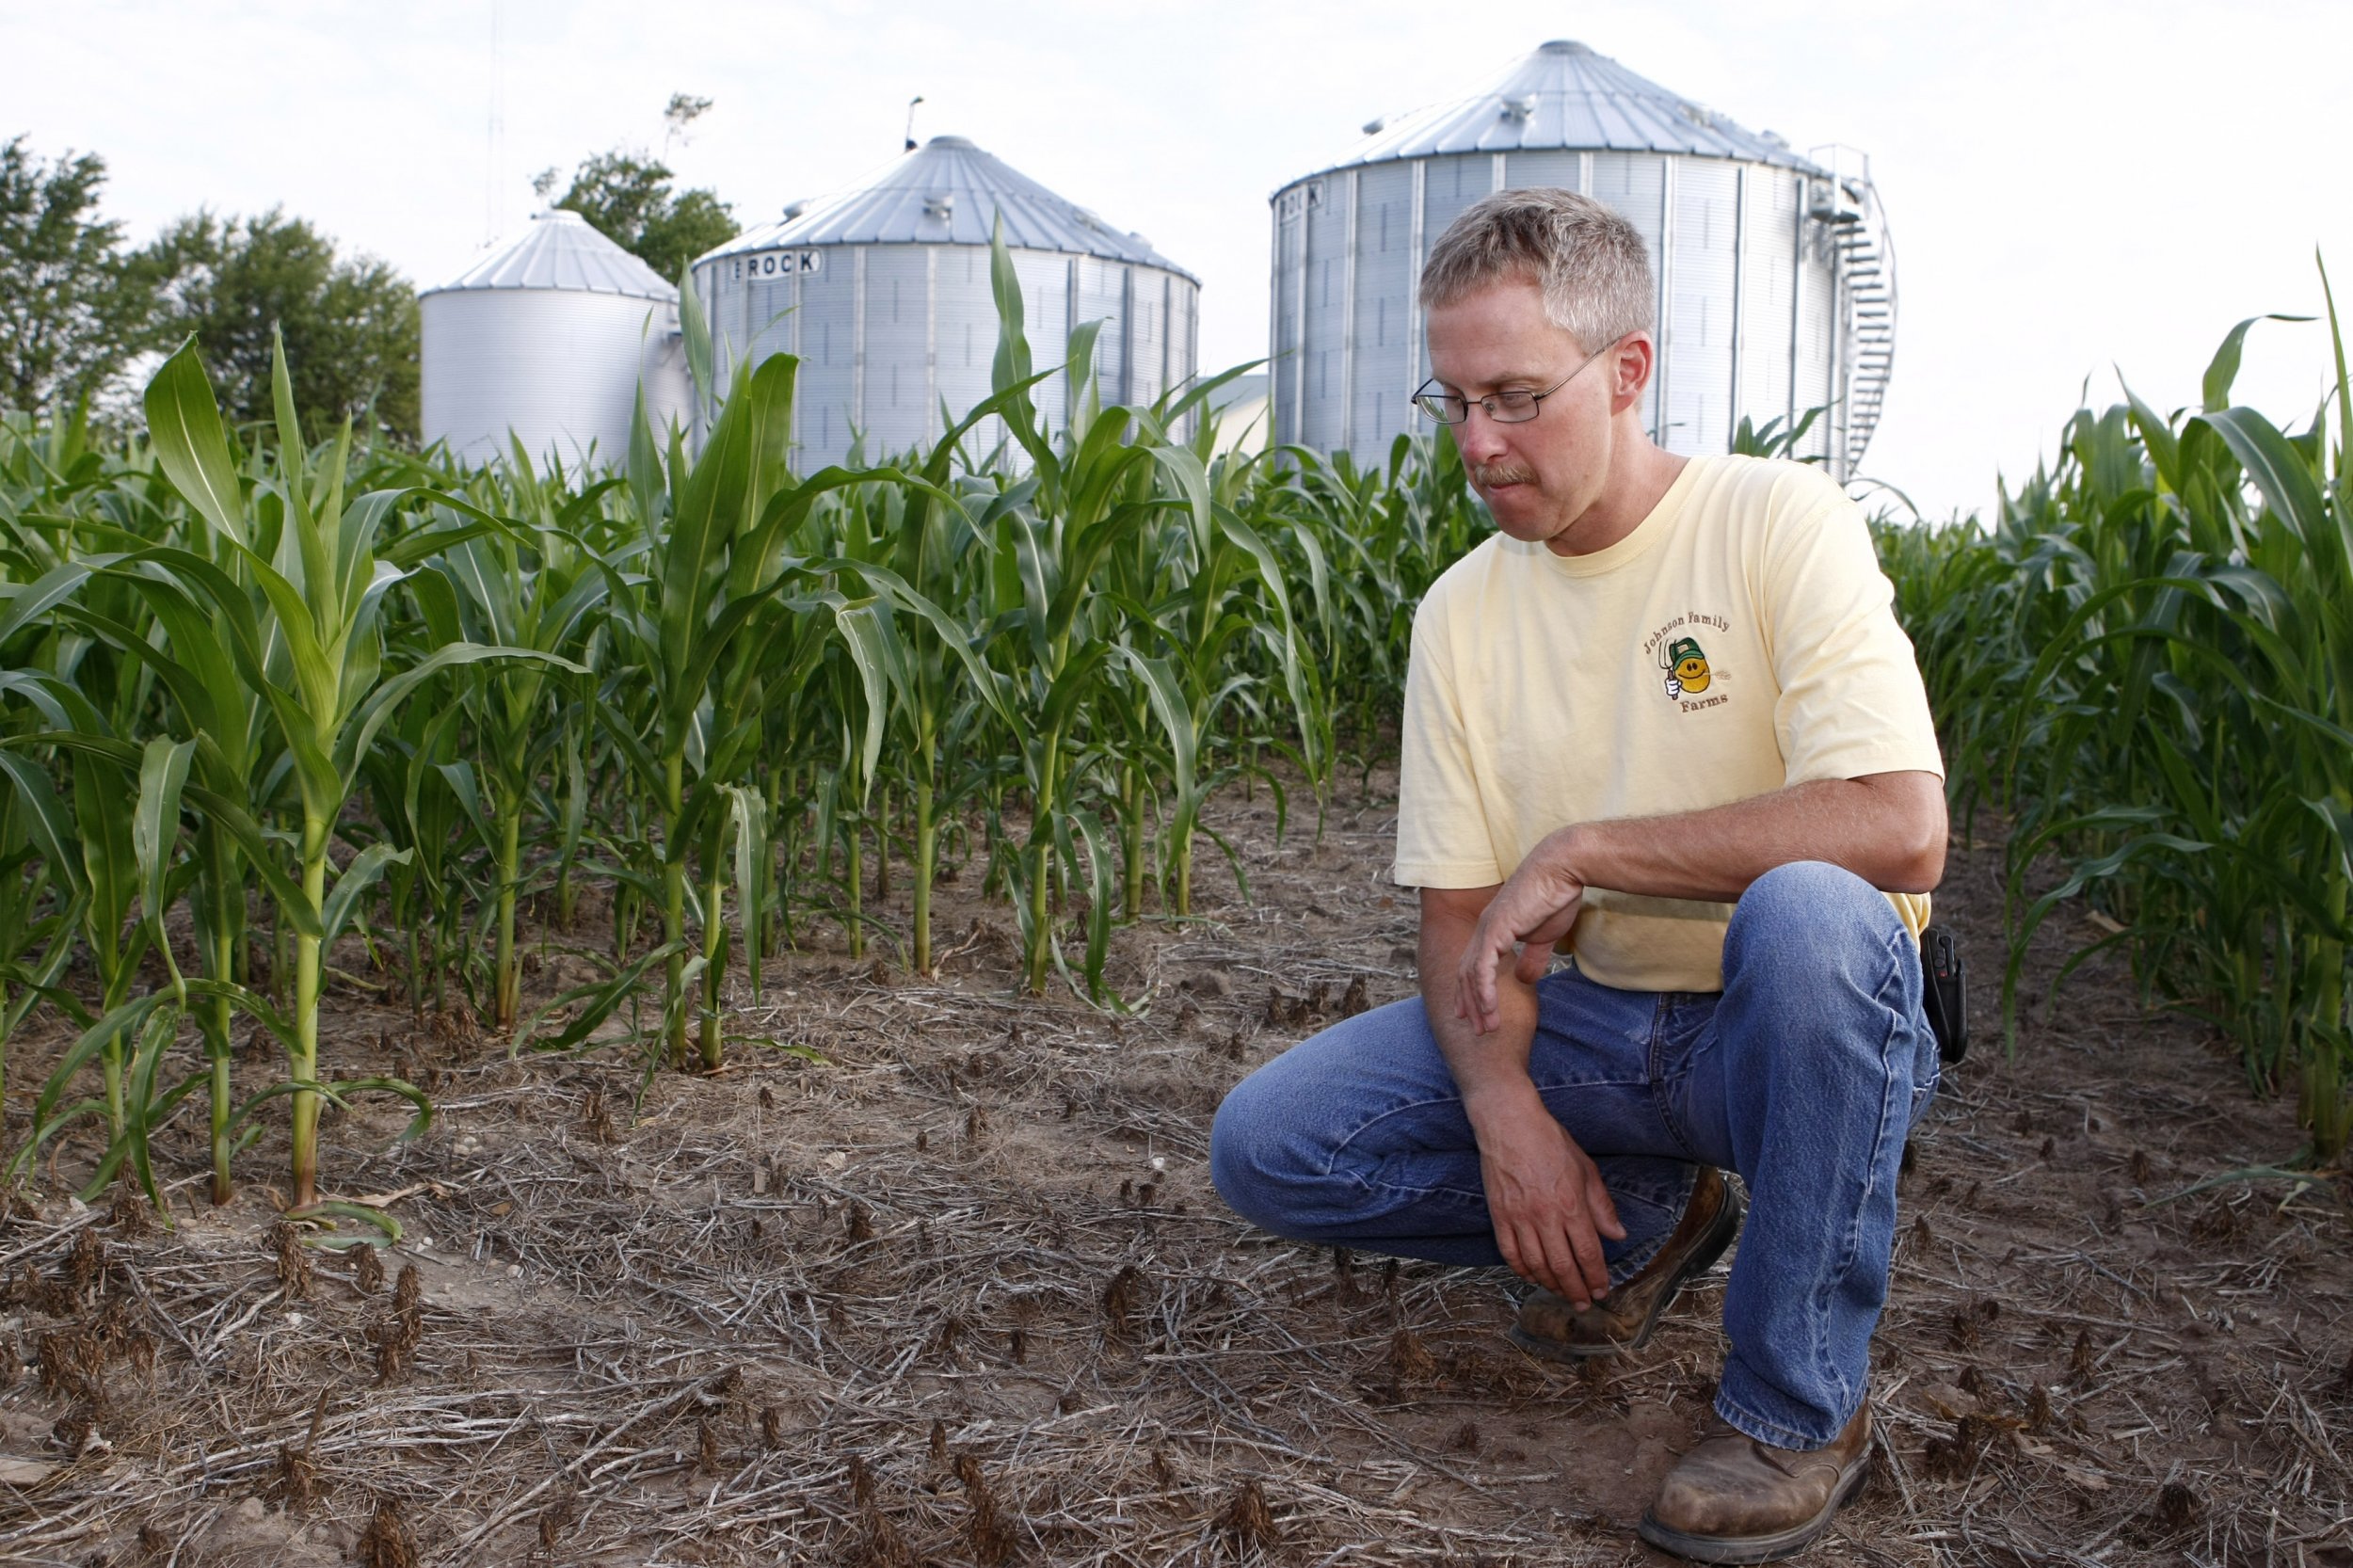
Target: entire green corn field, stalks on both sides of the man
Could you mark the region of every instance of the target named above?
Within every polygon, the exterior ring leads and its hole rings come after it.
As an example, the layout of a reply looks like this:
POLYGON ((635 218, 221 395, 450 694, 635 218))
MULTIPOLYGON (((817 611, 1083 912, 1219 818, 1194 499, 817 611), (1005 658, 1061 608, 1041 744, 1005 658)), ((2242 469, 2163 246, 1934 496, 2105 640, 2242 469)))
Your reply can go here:
MULTIPOLYGON (((94 1130, 85 1196, 176 1118, 212 1198, 273 1118, 318 1245, 398 1236, 320 1187, 332 986, 466 1005, 513 1050, 713 1071, 729 986, 833 928, 932 972, 932 890, 1012 911, 1019 984, 1125 1010, 1113 932, 1191 918, 1205 822, 1268 791, 1315 831, 1393 739, 1412 610, 1482 534, 1452 443, 1348 454, 1179 440, 1217 381, 1101 405, 1078 334, 1033 367, 995 257, 995 393, 929 452, 798 476, 795 363, 736 377, 689 447, 642 412, 612 466, 489 469, 226 428, 193 348, 144 438, 0 424, 0 1071, 68 1019, 9 1177, 94 1130), (1054 431, 1033 388, 1068 377, 1054 431), (986 433, 986 436, 984 436, 986 433), (986 440, 986 445, 984 445, 986 440), (1311 798, 1292 800, 1306 789, 1311 798), (904 928, 875 909, 906 878, 904 928), (593 897, 591 897, 593 895, 593 897), (595 904, 607 921, 584 932, 595 904), (522 1008, 534 939, 600 977, 522 1008), (275 1081, 233 1090, 266 1041, 275 1081)), ((692 292, 689 292, 692 301, 692 292)), ((713 363, 687 313, 689 358, 713 363)), ((2080 412, 1991 527, 1880 527, 1955 800, 2009 826, 2026 939, 2068 899, 2151 1001, 2212 1019, 2259 1090, 2346 1140, 2353 412, 2080 412), (2052 873, 2057 866, 2057 873, 2052 873)), ((1805 431, 1744 426, 1741 450, 1805 431)), ((762 1043, 765 1048, 767 1043, 762 1043)), ((5 1083, 0 1083, 5 1088, 5 1083)))

